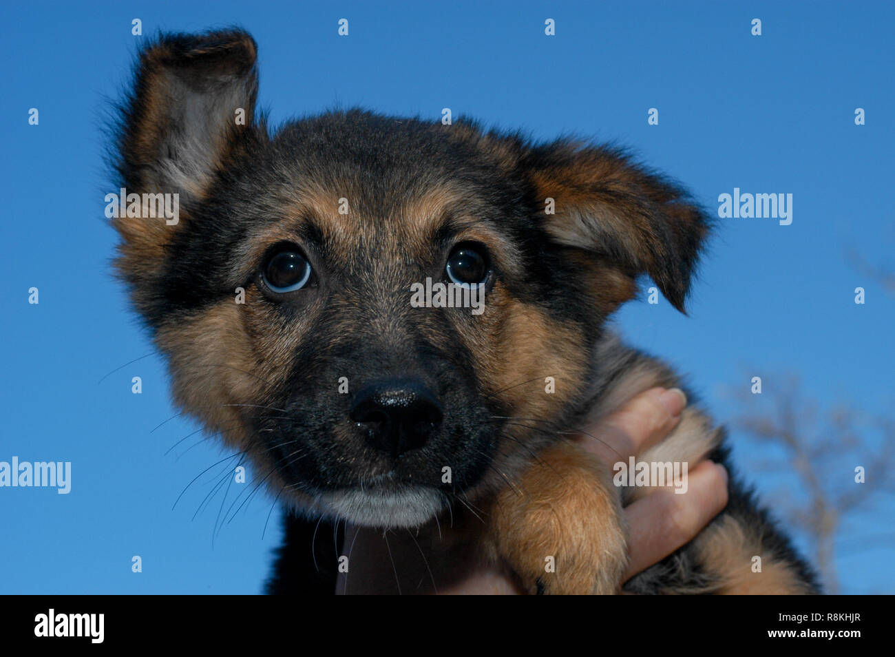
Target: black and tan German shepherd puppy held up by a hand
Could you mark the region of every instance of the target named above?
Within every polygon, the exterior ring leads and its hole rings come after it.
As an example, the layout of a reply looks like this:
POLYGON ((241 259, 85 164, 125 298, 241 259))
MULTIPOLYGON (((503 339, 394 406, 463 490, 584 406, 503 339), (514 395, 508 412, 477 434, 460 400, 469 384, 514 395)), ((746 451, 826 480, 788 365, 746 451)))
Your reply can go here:
MULTIPOLYGON (((141 51, 117 183, 176 194, 180 215, 113 223, 117 270, 176 404, 288 507, 268 591, 333 593, 346 521, 420 533, 453 522, 452 541, 527 591, 618 593, 622 506, 646 489, 613 485, 567 430, 679 387, 604 325, 642 274, 683 311, 707 216, 588 143, 361 110, 273 132, 255 109, 256 52, 241 30, 166 34, 141 51), (411 303, 435 283, 486 303, 411 303)), ((690 406, 641 460, 729 467, 723 435, 690 406)), ((624 590, 817 585, 731 477, 720 516, 624 590)))

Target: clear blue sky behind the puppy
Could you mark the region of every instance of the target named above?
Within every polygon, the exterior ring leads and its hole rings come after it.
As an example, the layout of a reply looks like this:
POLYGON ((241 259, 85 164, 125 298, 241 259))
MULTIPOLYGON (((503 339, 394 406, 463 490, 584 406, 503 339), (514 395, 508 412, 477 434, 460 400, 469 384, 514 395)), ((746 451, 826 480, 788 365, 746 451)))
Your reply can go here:
MULTIPOLYGON (((153 431, 175 414, 157 355, 103 379, 151 352, 111 277, 103 215, 115 191, 104 116, 146 39, 133 18, 144 35, 250 30, 274 123, 335 106, 432 118, 450 107, 538 138, 625 144, 710 209, 734 187, 792 193, 790 226, 719 220, 689 317, 641 301, 618 324, 685 371, 721 421, 737 410, 726 388, 761 375, 772 394, 786 371, 821 405, 895 415, 895 298, 846 259, 853 247, 895 269, 891 3, 6 3, 0 461, 71 461, 72 492, 0 488, 0 593, 258 593, 279 540, 276 509, 264 533, 264 493, 217 532, 234 487, 196 513, 220 467, 172 509, 227 453, 197 433, 166 454, 198 426, 175 417, 153 431), (651 107, 659 125, 647 124, 651 107)), ((763 456, 733 439, 739 460, 763 456)), ((750 477, 776 491, 770 475, 750 477)), ((849 525, 844 592, 895 590, 893 510, 882 500, 849 525)))

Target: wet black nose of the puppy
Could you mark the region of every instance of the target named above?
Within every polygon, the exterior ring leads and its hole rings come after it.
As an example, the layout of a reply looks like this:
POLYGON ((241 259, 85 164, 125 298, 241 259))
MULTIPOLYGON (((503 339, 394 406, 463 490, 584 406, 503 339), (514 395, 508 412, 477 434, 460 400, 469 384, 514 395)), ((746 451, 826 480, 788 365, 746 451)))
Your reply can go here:
POLYGON ((443 414, 438 399, 413 379, 379 380, 358 390, 349 417, 367 430, 367 439, 392 456, 421 448, 443 414))

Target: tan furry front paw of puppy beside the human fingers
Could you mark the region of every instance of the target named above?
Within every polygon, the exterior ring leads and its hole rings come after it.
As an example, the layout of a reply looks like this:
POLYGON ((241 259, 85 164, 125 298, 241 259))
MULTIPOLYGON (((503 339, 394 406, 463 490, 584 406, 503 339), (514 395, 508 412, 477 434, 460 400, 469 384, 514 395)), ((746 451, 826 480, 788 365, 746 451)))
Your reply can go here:
POLYGON ((543 453, 513 490, 501 491, 493 521, 499 558, 529 593, 618 593, 627 566, 618 492, 581 449, 543 453))

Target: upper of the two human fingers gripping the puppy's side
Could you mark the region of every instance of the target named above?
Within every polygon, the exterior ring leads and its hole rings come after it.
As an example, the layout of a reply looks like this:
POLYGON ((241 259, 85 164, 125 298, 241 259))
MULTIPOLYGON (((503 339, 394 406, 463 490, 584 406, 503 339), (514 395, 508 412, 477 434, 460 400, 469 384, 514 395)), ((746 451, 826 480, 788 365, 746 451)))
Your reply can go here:
POLYGON ((685 406, 683 390, 651 388, 602 418, 576 440, 604 464, 626 461, 665 438, 680 421, 685 406))

